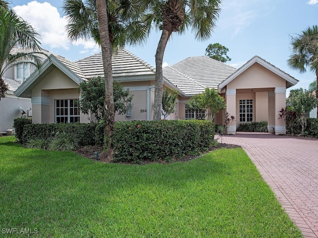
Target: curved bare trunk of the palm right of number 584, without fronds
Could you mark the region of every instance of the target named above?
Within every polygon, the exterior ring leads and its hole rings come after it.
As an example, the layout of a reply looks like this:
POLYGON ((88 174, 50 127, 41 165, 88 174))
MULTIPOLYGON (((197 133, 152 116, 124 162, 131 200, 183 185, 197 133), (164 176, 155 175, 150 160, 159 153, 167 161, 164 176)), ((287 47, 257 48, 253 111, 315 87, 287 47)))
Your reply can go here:
POLYGON ((154 120, 161 120, 162 110, 162 61, 164 50, 171 35, 171 31, 162 29, 161 37, 156 52, 156 84, 155 84, 155 102, 154 102, 154 120))

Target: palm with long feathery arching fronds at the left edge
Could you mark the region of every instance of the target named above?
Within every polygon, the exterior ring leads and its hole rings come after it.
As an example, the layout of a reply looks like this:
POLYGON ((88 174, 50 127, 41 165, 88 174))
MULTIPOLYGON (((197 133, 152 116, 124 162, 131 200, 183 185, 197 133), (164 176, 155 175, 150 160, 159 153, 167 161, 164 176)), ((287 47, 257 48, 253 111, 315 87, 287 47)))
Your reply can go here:
POLYGON ((0 2, 0 99, 8 90, 2 76, 10 67, 18 64, 41 65, 38 51, 40 36, 32 26, 8 9, 4 1, 0 2))

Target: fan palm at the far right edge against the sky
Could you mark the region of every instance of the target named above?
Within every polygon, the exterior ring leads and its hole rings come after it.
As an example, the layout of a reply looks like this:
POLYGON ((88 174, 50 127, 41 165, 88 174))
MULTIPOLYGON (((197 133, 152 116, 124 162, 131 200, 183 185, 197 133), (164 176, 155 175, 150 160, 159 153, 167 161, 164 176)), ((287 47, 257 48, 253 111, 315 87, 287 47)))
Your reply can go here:
MULTIPOLYGON (((291 41, 293 54, 288 59, 288 65, 305 73, 309 67, 316 73, 316 98, 318 103, 318 26, 308 27, 291 41)), ((317 111, 318 117, 318 111, 317 111)))

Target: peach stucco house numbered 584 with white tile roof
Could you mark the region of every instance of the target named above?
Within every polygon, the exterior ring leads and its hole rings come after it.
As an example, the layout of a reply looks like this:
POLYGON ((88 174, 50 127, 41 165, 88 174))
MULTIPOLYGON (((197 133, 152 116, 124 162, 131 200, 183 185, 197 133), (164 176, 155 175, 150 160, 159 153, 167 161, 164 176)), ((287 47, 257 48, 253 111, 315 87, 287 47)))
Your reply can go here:
MULTIPOLYGON (((155 68, 126 49, 112 57, 114 81, 121 82, 134 95, 127 115, 116 120, 151 120, 155 90, 155 68)), ((34 71, 15 91, 16 97, 30 98, 33 123, 89 122, 91 115, 78 109, 79 83, 103 76, 101 54, 73 62, 50 55, 40 71, 34 71)), ((276 134, 286 132, 278 111, 286 106, 286 88, 298 80, 267 61, 255 56, 239 69, 208 57, 189 57, 163 68, 163 87, 177 90, 175 113, 168 119, 194 119, 200 110, 191 112, 186 102, 205 88, 218 89, 227 108, 215 117, 216 124, 224 124, 225 112, 236 117, 228 129, 236 133, 239 122, 268 121, 268 130, 276 134)))

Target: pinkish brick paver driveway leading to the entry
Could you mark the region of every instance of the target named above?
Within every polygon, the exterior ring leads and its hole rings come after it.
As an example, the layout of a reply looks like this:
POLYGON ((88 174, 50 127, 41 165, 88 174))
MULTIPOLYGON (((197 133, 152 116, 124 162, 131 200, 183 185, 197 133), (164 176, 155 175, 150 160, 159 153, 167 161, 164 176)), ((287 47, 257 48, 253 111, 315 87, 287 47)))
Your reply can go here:
POLYGON ((318 238, 318 139, 238 132, 222 142, 240 145, 303 235, 318 238))

